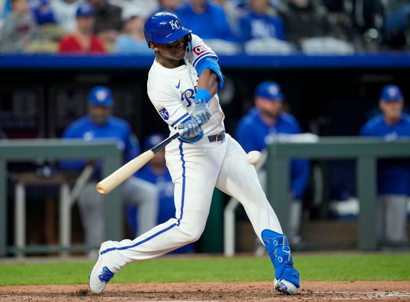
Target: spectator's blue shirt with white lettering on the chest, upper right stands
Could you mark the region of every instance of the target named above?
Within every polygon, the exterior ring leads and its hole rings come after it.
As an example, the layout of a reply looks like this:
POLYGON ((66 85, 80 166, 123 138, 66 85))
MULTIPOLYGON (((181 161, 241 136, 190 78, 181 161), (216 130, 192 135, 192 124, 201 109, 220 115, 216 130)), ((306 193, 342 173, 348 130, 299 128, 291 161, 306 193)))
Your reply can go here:
POLYGON ((285 40, 285 30, 280 16, 259 15, 249 12, 239 19, 239 39, 247 42, 251 39, 277 38, 285 40))

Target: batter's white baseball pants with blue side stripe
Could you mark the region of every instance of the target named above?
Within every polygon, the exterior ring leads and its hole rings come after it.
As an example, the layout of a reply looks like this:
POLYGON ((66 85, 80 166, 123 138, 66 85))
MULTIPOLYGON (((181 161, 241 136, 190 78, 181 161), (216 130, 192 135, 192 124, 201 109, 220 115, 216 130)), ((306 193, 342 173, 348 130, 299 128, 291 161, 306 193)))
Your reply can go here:
POLYGON ((196 241, 205 228, 215 186, 239 200, 259 239, 264 229, 282 233, 254 166, 229 134, 222 142, 213 143, 202 139, 188 144, 176 139, 167 146, 166 159, 175 183, 175 218, 134 240, 107 241, 100 254, 113 273, 128 263, 196 241))

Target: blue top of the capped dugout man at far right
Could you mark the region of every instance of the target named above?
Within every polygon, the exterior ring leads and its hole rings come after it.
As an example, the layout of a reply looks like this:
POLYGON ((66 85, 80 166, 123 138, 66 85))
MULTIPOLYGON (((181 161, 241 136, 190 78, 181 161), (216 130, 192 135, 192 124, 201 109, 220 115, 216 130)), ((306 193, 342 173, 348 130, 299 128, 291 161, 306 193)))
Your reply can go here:
MULTIPOLYGON (((400 122, 386 125, 383 114, 379 114, 364 124, 360 130, 360 135, 381 137, 386 140, 410 137, 410 115, 403 113, 400 122)), ((378 160, 377 183, 379 194, 410 194, 410 164, 408 159, 378 160)))

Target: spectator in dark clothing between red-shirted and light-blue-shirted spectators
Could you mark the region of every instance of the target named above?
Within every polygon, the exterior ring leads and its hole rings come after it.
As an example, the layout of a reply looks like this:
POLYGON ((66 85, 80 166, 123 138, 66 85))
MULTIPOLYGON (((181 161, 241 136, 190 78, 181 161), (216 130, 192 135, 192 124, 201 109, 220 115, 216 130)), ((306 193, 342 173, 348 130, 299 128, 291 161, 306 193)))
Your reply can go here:
POLYGON ((110 51, 122 28, 121 8, 109 4, 107 0, 89 1, 95 8, 94 32, 110 51))

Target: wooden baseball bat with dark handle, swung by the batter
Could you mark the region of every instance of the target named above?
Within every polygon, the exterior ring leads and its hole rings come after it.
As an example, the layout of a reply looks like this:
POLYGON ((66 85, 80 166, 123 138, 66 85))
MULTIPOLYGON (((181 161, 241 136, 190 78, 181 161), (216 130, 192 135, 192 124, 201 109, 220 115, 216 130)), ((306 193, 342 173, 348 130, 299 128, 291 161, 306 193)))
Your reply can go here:
POLYGON ((144 153, 138 155, 134 159, 131 159, 127 164, 118 168, 116 171, 111 173, 109 176, 101 180, 97 184, 97 191, 101 194, 108 194, 116 187, 118 187, 124 180, 130 177, 132 174, 141 169, 142 166, 147 164, 152 157, 160 150, 165 148, 169 143, 172 142, 175 138, 179 137, 183 133, 183 130, 178 130, 177 133, 172 136, 162 140, 161 143, 152 147, 150 150, 145 151, 144 153))

